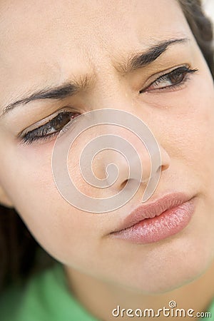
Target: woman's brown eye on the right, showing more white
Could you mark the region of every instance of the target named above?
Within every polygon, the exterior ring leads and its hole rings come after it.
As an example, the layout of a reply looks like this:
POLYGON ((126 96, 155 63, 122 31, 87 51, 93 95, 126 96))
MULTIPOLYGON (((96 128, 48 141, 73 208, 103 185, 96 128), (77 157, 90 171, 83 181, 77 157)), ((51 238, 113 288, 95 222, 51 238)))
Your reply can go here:
POLYGON ((160 91, 165 88, 168 88, 168 90, 173 90, 179 86, 182 86, 183 83, 188 80, 188 76, 191 73, 195 73, 195 71, 198 71, 198 69, 190 69, 186 66, 178 67, 173 71, 165 73, 163 76, 157 78, 156 81, 153 81, 153 83, 146 87, 146 89, 141 90, 140 93, 148 91, 160 91))

